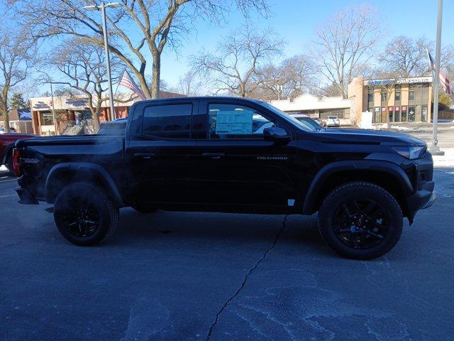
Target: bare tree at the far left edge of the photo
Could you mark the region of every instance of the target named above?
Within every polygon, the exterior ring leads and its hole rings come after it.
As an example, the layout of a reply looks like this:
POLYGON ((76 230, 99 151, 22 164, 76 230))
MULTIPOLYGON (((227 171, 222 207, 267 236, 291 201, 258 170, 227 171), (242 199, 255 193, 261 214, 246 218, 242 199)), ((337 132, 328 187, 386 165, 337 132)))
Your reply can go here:
POLYGON ((35 60, 32 45, 25 33, 0 27, 0 113, 6 133, 9 132, 9 94, 28 76, 35 60))

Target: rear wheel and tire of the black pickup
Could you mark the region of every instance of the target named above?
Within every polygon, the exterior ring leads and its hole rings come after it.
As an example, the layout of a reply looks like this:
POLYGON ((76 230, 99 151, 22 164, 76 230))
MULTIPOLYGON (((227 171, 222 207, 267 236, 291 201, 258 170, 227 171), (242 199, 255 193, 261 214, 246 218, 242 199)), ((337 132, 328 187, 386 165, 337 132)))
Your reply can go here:
POLYGON ((57 195, 54 220, 60 233, 70 242, 94 245, 114 233, 118 226, 118 207, 98 185, 72 183, 57 195))

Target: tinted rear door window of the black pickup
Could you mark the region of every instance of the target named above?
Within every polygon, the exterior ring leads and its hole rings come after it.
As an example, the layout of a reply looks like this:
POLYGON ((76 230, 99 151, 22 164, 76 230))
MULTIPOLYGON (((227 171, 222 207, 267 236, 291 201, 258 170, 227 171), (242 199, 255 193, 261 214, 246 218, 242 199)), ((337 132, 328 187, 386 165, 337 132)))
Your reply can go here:
POLYGON ((192 104, 165 104, 146 107, 142 135, 164 139, 191 138, 192 104))

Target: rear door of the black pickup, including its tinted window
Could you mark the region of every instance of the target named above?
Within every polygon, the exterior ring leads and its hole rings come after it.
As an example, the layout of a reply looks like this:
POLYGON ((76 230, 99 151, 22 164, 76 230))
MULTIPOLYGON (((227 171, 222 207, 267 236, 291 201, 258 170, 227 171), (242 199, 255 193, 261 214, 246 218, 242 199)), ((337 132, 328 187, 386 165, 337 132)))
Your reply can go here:
POLYGON ((128 186, 136 202, 190 202, 196 188, 195 100, 143 102, 129 123, 128 186))

